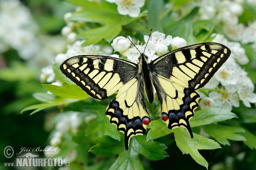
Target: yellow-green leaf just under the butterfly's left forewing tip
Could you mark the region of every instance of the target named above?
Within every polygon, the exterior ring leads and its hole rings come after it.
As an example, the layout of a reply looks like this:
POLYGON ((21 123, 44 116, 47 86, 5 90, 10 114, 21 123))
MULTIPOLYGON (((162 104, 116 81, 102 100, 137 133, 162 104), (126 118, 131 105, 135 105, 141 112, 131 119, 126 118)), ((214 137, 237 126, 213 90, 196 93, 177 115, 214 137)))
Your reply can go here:
POLYGON ((56 96, 71 98, 71 99, 86 99, 88 94, 86 94, 79 86, 71 85, 66 82, 62 84, 62 87, 57 85, 43 85, 48 91, 52 92, 56 96))

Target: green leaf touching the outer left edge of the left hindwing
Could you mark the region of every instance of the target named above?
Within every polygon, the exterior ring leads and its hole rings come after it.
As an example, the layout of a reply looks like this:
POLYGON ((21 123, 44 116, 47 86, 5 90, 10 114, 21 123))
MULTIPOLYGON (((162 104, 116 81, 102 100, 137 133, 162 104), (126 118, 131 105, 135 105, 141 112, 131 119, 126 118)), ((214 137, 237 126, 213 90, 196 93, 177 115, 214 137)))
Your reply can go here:
POLYGON ((94 119, 88 125, 86 129, 86 135, 93 135, 94 137, 110 136, 113 139, 120 141, 120 133, 115 125, 109 122, 105 112, 99 113, 96 119, 94 119))

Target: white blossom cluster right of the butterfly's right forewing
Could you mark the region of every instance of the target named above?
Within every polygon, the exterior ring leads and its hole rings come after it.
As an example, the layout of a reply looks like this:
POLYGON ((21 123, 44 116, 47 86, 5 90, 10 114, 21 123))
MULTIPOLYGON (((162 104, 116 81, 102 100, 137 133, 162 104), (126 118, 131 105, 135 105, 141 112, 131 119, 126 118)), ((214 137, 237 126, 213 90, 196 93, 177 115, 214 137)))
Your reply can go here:
POLYGON ((205 86, 205 88, 217 89, 217 91, 211 91, 209 97, 203 97, 200 102, 201 108, 218 106, 231 111, 233 106, 239 107, 239 100, 250 108, 250 103, 256 102, 256 94, 253 93, 253 82, 239 65, 249 62, 244 48, 241 48, 239 42, 230 42, 219 34, 212 41, 229 47, 231 55, 205 86))

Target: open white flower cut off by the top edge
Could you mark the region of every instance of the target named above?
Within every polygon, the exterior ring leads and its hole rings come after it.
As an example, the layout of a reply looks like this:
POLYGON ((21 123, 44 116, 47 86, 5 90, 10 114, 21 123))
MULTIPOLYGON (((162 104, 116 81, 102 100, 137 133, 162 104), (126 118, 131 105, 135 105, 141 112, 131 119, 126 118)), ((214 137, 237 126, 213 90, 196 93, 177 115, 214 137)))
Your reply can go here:
POLYGON ((107 0, 110 3, 115 2, 117 11, 121 15, 129 15, 130 17, 138 17, 140 8, 144 6, 145 0, 107 0))

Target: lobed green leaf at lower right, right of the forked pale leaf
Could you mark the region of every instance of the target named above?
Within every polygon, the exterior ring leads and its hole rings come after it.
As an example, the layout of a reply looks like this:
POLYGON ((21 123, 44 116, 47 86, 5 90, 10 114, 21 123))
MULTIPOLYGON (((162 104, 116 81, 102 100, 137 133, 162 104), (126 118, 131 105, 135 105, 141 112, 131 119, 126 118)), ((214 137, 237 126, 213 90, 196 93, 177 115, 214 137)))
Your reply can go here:
POLYGON ((217 142, 230 145, 227 139, 235 140, 235 141, 244 141, 246 140, 244 136, 239 134, 238 132, 244 132, 244 129, 241 127, 231 127, 225 125, 204 125, 203 129, 206 133, 212 136, 217 142))

